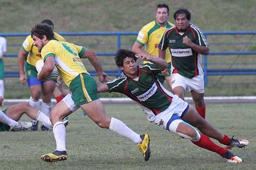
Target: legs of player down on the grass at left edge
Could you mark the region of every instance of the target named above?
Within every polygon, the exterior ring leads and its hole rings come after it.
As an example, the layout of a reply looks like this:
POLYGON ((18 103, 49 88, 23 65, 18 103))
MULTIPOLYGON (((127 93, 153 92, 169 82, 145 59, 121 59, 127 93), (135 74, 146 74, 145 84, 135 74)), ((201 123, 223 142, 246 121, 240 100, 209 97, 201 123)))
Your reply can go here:
MULTIPOLYGON (((0 98, 0 105, 2 103, 3 98, 0 98)), ((28 130, 32 123, 17 122, 23 114, 27 114, 33 120, 38 120, 46 125, 52 125, 48 116, 31 107, 28 102, 22 102, 4 111, 0 110, 0 131, 9 131, 10 129, 12 131, 28 130)))

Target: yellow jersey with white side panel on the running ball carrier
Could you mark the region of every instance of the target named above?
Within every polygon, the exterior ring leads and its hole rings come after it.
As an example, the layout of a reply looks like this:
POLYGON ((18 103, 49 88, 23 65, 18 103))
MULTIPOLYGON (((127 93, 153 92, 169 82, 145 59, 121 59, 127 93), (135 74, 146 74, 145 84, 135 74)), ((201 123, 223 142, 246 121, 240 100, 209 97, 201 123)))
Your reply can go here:
POLYGON ((86 48, 69 42, 50 40, 41 50, 41 56, 45 61, 52 56, 59 70, 59 76, 69 87, 72 80, 79 74, 89 72, 84 67, 80 57, 86 52, 86 48))

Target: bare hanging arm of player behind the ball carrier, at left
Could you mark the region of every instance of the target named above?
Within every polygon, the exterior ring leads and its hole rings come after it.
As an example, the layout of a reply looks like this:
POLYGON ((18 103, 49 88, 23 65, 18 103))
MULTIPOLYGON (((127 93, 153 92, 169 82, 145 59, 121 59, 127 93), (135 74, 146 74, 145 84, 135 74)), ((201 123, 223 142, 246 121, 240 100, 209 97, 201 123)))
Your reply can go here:
POLYGON ((25 58, 27 56, 28 56, 28 53, 21 48, 18 53, 18 69, 19 69, 19 81, 22 84, 26 84, 27 82, 27 77, 24 71, 25 58))

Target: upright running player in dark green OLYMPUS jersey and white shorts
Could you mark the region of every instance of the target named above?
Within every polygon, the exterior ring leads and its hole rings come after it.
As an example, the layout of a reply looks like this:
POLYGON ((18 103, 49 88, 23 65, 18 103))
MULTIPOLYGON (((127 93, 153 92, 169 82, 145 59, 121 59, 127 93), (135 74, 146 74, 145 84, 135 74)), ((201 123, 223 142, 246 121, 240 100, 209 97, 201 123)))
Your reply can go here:
POLYGON ((172 55, 173 92, 184 100, 190 91, 198 113, 205 118, 204 72, 202 56, 209 53, 203 32, 190 23, 190 12, 179 9, 174 13, 175 25, 165 31, 159 43, 159 57, 165 58, 166 49, 172 55))

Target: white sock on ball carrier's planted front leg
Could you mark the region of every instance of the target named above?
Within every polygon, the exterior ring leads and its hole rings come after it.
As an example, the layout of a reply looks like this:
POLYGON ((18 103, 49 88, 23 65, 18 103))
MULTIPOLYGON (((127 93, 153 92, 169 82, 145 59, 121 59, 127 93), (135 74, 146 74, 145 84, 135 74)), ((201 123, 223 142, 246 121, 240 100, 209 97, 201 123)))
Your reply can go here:
POLYGON ((53 134, 57 151, 66 151, 66 128, 63 122, 57 122, 53 126, 53 134))

